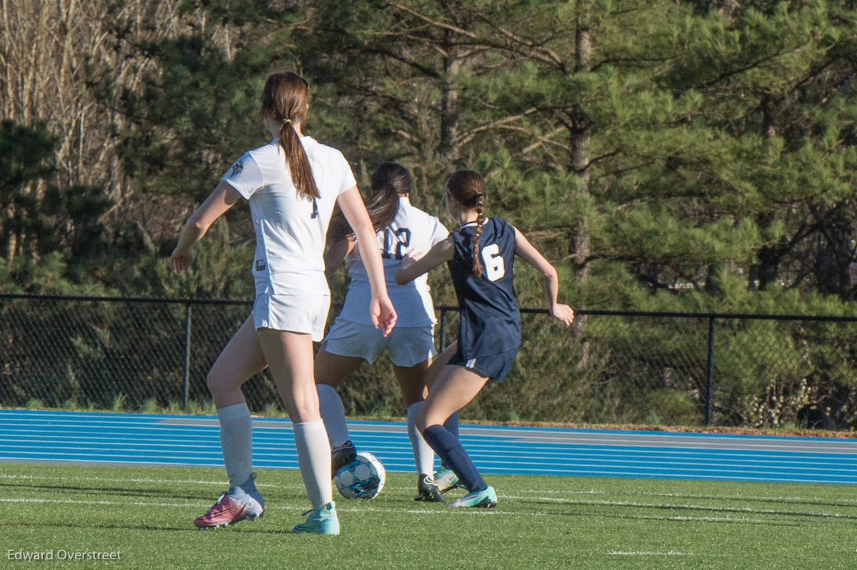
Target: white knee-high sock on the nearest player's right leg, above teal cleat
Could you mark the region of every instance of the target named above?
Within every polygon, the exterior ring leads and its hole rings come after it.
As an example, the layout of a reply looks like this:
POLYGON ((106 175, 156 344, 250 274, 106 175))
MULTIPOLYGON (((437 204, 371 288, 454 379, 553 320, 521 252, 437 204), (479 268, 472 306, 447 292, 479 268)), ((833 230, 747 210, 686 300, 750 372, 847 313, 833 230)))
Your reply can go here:
POLYGON ((303 486, 307 488, 309 502, 314 509, 322 508, 333 501, 333 486, 330 478, 330 447, 324 421, 295 424, 295 446, 297 465, 301 469, 303 486))

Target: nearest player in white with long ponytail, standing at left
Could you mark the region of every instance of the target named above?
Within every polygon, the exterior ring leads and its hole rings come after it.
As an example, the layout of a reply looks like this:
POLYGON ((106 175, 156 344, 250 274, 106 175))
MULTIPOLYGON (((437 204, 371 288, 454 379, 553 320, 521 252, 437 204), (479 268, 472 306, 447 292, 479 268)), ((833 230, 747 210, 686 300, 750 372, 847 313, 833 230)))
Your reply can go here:
POLYGON ((294 425, 297 459, 312 509, 295 532, 339 534, 330 480, 330 448, 313 377, 313 341, 321 341, 330 306, 324 246, 333 206, 339 205, 363 252, 371 295, 366 318, 381 334, 396 311, 387 296, 375 230, 342 153, 304 136, 309 85, 294 73, 270 74, 261 116, 273 136, 248 151, 191 215, 170 258, 183 271, 193 245, 239 199, 247 199, 256 235, 253 312, 208 372, 217 406, 229 490, 194 524, 213 528, 253 520, 265 509, 252 472, 252 423, 241 386, 266 367, 294 425))

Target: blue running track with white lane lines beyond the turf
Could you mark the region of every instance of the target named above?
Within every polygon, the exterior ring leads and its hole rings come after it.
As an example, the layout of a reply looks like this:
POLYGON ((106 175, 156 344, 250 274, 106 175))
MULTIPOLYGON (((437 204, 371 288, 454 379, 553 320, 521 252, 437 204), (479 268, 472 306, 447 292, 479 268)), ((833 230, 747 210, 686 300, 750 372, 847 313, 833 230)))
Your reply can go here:
MULTIPOLYGON (((297 469, 291 421, 254 419, 259 468, 297 469)), ((401 422, 349 422, 358 450, 412 472, 401 422)), ((485 473, 857 484, 857 440, 462 425, 485 473)), ((222 467, 211 416, 0 410, 0 462, 222 467)))

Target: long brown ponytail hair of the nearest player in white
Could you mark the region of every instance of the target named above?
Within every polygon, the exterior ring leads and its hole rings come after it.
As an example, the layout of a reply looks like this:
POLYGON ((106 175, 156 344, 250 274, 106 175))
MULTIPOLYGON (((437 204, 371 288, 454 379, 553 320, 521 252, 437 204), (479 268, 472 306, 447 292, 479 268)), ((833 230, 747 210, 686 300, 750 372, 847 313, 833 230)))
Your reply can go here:
POLYGON ((289 165, 291 181, 298 192, 320 198, 313 170, 309 166, 309 158, 292 127, 307 118, 308 102, 309 83, 300 75, 291 71, 278 72, 268 75, 265 79, 261 116, 279 124, 277 142, 285 151, 285 162, 289 165))

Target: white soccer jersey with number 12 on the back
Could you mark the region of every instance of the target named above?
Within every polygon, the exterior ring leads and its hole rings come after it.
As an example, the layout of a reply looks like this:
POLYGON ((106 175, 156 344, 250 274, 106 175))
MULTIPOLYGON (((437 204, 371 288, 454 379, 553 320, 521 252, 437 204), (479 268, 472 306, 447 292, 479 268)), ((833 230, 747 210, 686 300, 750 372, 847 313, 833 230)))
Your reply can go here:
MULTIPOLYGON (((387 280, 387 294, 396 307, 397 327, 424 327, 434 324, 434 305, 428 293, 428 275, 423 274, 407 285, 396 284, 396 271, 402 264, 405 253, 410 251, 428 252, 438 241, 445 240, 449 232, 434 216, 415 208, 411 202, 399 197, 399 211, 387 228, 375 234, 381 258, 384 261, 384 277, 387 280)), ((345 306, 339 315, 355 323, 371 324, 369 303, 372 290, 369 288, 369 276, 366 266, 360 258, 357 247, 345 258, 351 284, 345 294, 345 306)))

